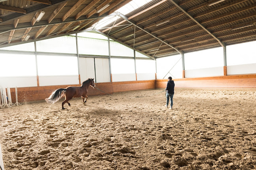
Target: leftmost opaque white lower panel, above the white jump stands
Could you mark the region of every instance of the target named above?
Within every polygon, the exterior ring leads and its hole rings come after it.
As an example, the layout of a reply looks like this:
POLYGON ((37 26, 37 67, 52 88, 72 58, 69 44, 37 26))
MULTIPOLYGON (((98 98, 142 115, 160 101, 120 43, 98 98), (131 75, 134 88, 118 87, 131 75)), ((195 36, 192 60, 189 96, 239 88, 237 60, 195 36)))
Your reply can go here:
POLYGON ((31 77, 0 77, 0 87, 35 87, 36 76, 31 77))

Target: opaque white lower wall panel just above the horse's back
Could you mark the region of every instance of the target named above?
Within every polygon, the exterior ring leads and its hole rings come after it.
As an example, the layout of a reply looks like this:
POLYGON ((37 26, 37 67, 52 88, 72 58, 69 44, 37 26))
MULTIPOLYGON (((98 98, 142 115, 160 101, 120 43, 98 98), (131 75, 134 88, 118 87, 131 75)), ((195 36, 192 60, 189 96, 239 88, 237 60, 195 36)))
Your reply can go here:
POLYGON ((39 76, 39 85, 71 85, 79 84, 78 75, 73 76, 39 76))

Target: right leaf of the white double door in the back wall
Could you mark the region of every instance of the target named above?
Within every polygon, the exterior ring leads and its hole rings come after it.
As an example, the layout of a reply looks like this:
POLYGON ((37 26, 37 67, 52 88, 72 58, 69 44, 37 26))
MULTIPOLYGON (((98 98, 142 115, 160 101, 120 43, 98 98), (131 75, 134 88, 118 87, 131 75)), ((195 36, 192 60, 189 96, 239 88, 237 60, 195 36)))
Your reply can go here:
POLYGON ((109 59, 95 58, 96 82, 110 82, 109 59))

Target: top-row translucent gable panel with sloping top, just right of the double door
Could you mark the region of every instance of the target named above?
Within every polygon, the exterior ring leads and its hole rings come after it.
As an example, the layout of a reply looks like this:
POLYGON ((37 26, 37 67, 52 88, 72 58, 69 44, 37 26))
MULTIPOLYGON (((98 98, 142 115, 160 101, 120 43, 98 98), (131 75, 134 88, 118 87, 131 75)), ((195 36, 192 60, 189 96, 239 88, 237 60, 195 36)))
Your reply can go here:
POLYGON ((110 41, 110 55, 122 57, 134 57, 133 50, 116 41, 110 41))

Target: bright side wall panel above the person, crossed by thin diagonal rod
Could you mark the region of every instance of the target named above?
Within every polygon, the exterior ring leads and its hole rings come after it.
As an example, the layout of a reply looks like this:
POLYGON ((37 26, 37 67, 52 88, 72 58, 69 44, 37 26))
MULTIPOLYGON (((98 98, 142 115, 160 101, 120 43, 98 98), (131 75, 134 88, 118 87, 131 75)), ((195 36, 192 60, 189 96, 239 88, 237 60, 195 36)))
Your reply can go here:
POLYGON ((156 59, 157 79, 182 78, 181 55, 172 55, 156 59))

